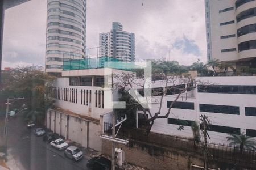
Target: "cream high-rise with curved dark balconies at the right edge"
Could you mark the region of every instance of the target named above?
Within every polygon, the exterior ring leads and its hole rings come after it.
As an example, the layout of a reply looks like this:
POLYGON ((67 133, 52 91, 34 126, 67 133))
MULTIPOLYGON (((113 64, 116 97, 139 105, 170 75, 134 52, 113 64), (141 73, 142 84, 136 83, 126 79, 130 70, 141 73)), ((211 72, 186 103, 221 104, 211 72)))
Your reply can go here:
POLYGON ((256 68, 256 1, 205 0, 207 58, 256 68))

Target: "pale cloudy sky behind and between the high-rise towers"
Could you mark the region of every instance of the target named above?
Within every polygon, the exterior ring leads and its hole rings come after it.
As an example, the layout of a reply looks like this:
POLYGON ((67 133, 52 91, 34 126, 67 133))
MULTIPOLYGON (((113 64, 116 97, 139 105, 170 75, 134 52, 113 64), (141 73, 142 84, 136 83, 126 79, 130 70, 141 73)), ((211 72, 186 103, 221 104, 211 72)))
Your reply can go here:
MULTIPOLYGON (((47 0, 31 0, 5 11, 2 69, 44 66, 46 9, 47 0)), ((98 34, 109 32, 112 22, 135 33, 138 60, 207 60, 204 0, 87 0, 86 48, 98 46, 98 34)))

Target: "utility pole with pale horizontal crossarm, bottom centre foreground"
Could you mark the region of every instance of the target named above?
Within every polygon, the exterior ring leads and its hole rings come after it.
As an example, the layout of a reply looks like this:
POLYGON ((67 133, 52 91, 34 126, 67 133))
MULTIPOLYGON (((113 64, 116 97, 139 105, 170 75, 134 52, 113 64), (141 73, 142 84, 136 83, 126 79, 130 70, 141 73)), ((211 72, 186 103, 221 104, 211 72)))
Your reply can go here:
POLYGON ((112 142, 111 170, 115 170, 115 143, 121 143, 123 145, 127 145, 129 142, 128 140, 123 140, 123 139, 117 138, 118 131, 121 128, 123 122, 126 120, 127 120, 127 116, 125 115, 125 118, 121 118, 121 121, 117 120, 117 124, 115 124, 115 117, 113 116, 112 117, 112 136, 101 135, 102 139, 106 139, 106 140, 112 142), (115 127, 117 127, 118 125, 120 125, 120 126, 117 130, 117 133, 115 134, 115 127))

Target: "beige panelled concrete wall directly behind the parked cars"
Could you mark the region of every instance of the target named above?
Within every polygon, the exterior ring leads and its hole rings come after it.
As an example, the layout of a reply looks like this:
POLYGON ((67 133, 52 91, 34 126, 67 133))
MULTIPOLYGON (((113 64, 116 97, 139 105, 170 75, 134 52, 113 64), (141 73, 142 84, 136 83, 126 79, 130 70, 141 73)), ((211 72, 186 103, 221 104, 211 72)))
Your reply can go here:
POLYGON ((102 125, 57 110, 48 110, 47 128, 83 147, 101 151, 102 125), (51 118, 50 118, 51 117, 51 118))

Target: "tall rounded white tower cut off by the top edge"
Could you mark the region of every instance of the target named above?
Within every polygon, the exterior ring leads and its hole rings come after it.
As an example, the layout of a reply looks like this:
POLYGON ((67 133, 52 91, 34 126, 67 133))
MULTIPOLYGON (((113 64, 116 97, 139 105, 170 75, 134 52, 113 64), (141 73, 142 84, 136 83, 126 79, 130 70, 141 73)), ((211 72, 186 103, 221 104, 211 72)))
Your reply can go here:
POLYGON ((85 57, 86 0, 48 0, 46 72, 61 73, 63 61, 85 57))

